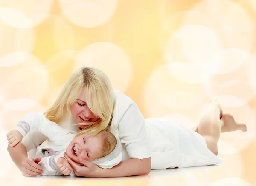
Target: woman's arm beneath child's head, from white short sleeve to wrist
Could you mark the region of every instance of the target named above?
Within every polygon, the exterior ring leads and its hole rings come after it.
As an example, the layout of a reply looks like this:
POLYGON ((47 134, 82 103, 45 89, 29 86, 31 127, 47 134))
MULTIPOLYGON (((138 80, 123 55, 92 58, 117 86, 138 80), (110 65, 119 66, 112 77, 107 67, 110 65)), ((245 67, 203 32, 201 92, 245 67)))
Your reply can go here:
POLYGON ((121 143, 125 145, 130 159, 122 161, 113 169, 102 170, 103 176, 148 175, 151 170, 150 141, 145 118, 137 104, 132 104, 118 125, 121 143))

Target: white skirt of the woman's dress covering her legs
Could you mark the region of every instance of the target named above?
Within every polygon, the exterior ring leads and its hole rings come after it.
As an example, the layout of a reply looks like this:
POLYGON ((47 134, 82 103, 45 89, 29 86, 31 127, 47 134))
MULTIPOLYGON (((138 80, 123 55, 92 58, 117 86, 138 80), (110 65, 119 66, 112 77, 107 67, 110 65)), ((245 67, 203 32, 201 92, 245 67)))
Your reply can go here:
POLYGON ((175 121, 146 119, 151 143, 151 169, 183 168, 221 163, 197 132, 175 121))

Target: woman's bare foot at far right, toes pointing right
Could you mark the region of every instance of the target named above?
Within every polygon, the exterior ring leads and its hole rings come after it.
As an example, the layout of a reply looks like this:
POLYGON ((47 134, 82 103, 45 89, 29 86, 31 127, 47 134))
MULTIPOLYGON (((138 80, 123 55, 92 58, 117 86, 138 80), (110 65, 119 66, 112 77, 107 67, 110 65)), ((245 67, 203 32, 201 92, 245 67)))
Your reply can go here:
POLYGON ((223 127, 221 132, 232 132, 236 130, 241 130, 242 132, 247 131, 247 127, 243 123, 235 121, 234 117, 231 114, 223 114, 221 121, 223 121, 223 127))

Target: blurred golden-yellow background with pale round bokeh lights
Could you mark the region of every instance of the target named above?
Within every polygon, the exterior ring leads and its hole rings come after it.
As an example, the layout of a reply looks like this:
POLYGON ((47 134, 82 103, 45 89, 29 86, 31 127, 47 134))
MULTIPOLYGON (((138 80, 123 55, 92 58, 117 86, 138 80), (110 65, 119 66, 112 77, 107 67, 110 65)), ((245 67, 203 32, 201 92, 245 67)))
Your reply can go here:
POLYGON ((49 108, 74 70, 95 66, 145 118, 191 128, 218 99, 247 124, 221 136, 221 169, 140 185, 256 185, 255 26, 256 0, 0 0, 0 179, 20 185, 6 132, 49 108))

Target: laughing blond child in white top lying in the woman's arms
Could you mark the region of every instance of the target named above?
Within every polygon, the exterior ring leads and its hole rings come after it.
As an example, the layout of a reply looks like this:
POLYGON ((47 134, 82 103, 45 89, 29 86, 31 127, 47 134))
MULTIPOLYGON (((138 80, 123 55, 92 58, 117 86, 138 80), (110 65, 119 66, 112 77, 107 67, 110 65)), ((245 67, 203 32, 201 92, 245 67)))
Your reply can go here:
POLYGON ((7 134, 9 145, 14 147, 31 130, 38 130, 48 138, 37 149, 33 149, 35 157, 41 157, 38 164, 42 166, 42 175, 75 175, 64 158, 64 152, 76 163, 84 159, 102 168, 112 168, 122 160, 120 144, 111 132, 88 135, 81 130, 77 134, 39 113, 29 113, 19 121, 14 130, 7 134))

